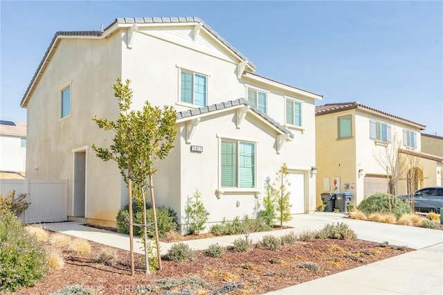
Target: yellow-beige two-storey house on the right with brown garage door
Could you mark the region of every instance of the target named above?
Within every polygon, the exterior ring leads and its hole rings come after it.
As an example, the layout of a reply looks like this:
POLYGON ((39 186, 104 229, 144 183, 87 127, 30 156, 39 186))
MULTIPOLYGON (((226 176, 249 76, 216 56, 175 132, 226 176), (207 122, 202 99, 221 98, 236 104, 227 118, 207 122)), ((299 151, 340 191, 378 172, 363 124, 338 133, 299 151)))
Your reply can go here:
POLYGON ((365 196, 388 193, 386 170, 377 159, 392 147, 406 163, 391 192, 440 185, 443 158, 422 152, 425 127, 359 102, 316 107, 317 203, 323 192, 350 192, 354 205, 365 196))

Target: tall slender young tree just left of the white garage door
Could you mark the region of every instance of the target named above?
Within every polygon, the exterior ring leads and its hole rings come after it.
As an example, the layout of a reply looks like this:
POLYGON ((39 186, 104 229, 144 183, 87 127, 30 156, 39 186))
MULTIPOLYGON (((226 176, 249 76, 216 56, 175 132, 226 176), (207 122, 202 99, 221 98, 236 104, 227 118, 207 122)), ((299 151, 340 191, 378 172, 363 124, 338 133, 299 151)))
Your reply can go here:
POLYGON ((289 181, 287 179, 289 172, 286 163, 283 163, 282 168, 277 172, 277 178, 275 179, 275 199, 277 200, 277 219, 280 221, 280 227, 283 227, 283 222, 289 222, 292 219, 291 216, 291 203, 289 202, 289 196, 291 193, 288 190, 289 181))

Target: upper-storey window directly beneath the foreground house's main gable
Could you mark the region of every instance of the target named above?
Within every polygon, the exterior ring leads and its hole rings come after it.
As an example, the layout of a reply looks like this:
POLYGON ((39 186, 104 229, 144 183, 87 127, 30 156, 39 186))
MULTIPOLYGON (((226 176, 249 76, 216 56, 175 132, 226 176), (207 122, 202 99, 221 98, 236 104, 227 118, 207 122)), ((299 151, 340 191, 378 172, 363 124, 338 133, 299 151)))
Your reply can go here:
POLYGON ((206 75, 181 71, 181 102, 205 107, 207 80, 206 75))

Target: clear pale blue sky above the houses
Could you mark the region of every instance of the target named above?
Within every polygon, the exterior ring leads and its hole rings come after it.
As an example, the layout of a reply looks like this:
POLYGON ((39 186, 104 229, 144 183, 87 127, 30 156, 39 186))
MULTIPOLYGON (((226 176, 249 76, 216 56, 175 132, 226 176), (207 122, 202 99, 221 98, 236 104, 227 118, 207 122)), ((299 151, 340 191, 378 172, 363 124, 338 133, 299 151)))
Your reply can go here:
POLYGON ((443 1, 1 1, 2 120, 57 30, 99 30, 117 17, 200 17, 257 74, 359 101, 443 136, 443 1))

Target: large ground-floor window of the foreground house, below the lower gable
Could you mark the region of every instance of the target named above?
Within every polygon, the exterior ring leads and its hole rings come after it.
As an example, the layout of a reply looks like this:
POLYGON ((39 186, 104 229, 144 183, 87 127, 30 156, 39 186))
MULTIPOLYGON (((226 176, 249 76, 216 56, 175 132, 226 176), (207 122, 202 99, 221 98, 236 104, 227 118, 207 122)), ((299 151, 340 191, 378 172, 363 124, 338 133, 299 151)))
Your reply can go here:
POLYGON ((221 141, 221 186, 255 188, 255 143, 221 141))

